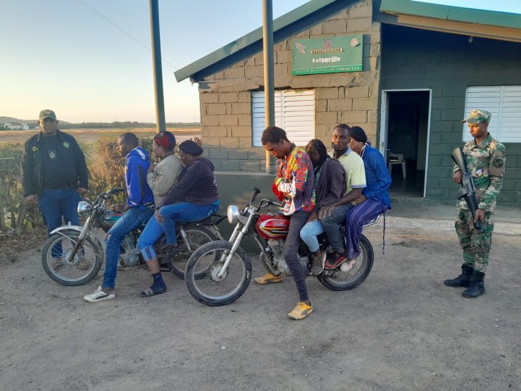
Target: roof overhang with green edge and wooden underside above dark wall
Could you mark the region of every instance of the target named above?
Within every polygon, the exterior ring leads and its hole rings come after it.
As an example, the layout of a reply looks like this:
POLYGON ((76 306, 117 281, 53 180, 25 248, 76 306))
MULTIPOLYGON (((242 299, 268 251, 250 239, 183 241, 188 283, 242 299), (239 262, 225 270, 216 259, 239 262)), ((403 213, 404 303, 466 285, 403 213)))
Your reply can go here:
POLYGON ((411 0, 382 0, 379 22, 422 30, 521 42, 521 15, 442 6, 411 0))

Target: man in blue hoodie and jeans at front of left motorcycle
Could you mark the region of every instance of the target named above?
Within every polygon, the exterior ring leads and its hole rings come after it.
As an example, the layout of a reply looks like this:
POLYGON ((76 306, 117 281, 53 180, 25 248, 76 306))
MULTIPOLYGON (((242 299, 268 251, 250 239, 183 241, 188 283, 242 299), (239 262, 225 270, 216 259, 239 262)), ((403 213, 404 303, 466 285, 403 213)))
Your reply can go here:
POLYGON ((87 302, 101 302, 115 297, 115 277, 118 272, 120 245, 123 237, 135 228, 144 225, 153 216, 153 193, 146 183, 146 170, 150 166, 149 154, 138 147, 134 133, 123 133, 118 138, 118 151, 125 156, 125 184, 127 185, 127 202, 115 208, 125 212, 123 216, 107 232, 106 264, 103 283, 92 294, 83 298, 87 302))

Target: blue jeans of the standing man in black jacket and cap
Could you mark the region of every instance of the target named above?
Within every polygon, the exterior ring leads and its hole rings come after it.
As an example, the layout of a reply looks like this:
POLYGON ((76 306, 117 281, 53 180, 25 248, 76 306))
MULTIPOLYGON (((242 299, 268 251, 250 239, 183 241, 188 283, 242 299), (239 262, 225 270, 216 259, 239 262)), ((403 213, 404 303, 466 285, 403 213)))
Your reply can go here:
MULTIPOLYGON (((77 190, 70 189, 46 189, 38 197, 38 206, 42 211, 47 235, 51 236, 51 231, 61 227, 62 218, 65 224, 80 225, 80 216, 77 214, 77 204, 81 201, 77 190)), ((54 258, 61 257, 61 242, 54 244, 51 254, 54 258)))

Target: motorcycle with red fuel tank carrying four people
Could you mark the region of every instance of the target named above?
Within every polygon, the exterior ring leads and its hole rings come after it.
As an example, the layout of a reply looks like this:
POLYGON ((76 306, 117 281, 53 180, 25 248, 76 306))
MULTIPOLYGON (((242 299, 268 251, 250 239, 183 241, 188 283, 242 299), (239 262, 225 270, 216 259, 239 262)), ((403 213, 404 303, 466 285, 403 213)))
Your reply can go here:
MULTIPOLYGON (((282 206, 270 199, 261 199, 258 206, 253 206, 260 192, 258 188, 253 190, 244 211, 234 205, 228 206, 228 221, 235 224, 229 241, 203 244, 190 256, 185 280, 190 294, 197 301, 208 306, 223 306, 234 302, 246 291, 251 280, 251 261, 240 247, 245 235, 251 237, 261 250, 259 257, 266 271, 274 275, 291 275, 283 255, 289 218, 269 211, 260 213, 261 209, 268 209, 271 205, 282 206)), ((365 226, 375 224, 378 218, 365 226)), ((341 234, 344 235, 343 227, 341 234)), ((319 235, 318 242, 320 249, 328 256, 333 256, 327 235, 319 235)), ((330 290, 351 290, 357 287, 368 277, 374 260, 371 243, 364 235, 360 238, 360 249, 360 256, 349 270, 342 271, 339 266, 325 269, 315 277, 330 290)), ((311 275, 310 251, 304 243, 299 248, 299 258, 306 275, 311 275)))

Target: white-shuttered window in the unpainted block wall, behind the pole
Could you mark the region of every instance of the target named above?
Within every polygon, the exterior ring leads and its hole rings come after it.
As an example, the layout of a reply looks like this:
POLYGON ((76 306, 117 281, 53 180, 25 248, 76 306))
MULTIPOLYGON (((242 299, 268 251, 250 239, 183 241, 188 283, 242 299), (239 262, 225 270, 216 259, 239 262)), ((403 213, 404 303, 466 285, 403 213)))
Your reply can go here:
MULTIPOLYGON (((264 92, 252 92, 251 102, 253 147, 262 147, 264 92)), ((275 126, 284 129, 288 139, 299 146, 305 146, 315 138, 315 90, 275 91, 275 126)))

